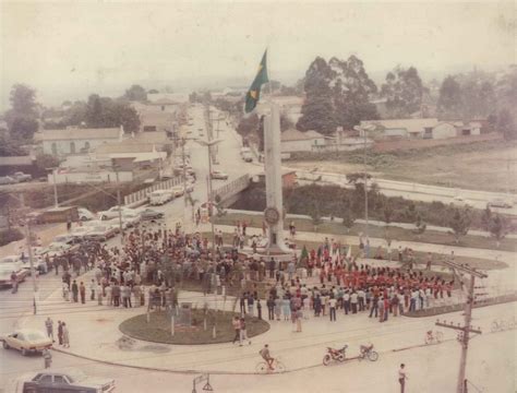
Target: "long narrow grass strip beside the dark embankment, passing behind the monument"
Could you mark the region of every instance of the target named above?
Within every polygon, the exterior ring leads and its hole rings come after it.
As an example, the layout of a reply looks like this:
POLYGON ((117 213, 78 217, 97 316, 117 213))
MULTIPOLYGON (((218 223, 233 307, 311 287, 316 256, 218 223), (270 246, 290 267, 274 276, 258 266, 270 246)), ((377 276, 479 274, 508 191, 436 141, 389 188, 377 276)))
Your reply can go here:
MULTIPOLYGON (((252 215, 243 213, 228 213, 223 217, 216 217, 215 223, 219 225, 235 225, 238 221, 247 222, 250 227, 260 227, 262 228, 262 215, 252 215)), ((285 229, 289 228, 289 223, 294 222, 294 226, 299 231, 317 231, 320 234, 329 234, 329 235, 348 235, 348 236, 358 236, 359 234, 364 234, 365 225, 364 224, 354 224, 350 230, 348 230, 340 223, 322 223, 316 228, 311 219, 308 218, 293 218, 285 221, 285 229), (314 230, 316 229, 316 230, 314 230)), ((386 236, 386 229, 376 225, 369 225, 368 231, 372 238, 384 238, 386 236)), ((428 242, 433 245, 443 245, 443 246, 458 246, 458 247, 468 247, 468 248, 479 248, 479 249, 489 249, 489 250, 501 250, 501 251, 510 251, 515 252, 517 250, 517 240, 515 239, 503 239, 501 246, 497 248, 495 240, 492 238, 485 238, 482 236, 472 236, 467 235, 461 238, 459 243, 456 243, 453 236, 446 233, 441 233, 436 230, 425 230, 420 237, 413 234, 409 229, 404 229, 400 227, 389 227, 388 236, 392 240, 399 241, 419 241, 428 242)))

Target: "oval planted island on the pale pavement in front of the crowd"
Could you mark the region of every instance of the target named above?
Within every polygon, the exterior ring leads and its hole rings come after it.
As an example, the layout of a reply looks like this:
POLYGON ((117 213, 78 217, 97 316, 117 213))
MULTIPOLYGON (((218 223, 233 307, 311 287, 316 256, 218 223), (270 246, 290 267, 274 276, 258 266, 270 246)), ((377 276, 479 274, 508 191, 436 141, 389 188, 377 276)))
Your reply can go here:
MULTIPOLYGON (((171 317, 166 311, 143 313, 123 321, 120 331, 133 338, 163 344, 196 345, 220 344, 233 341, 236 331, 232 326, 233 317, 239 314, 230 311, 214 311, 206 313, 203 309, 192 310, 190 325, 175 325, 171 331, 171 317), (215 326, 215 336, 214 336, 215 326)), ((269 330, 269 324, 255 317, 245 317, 248 337, 252 338, 269 330)))

